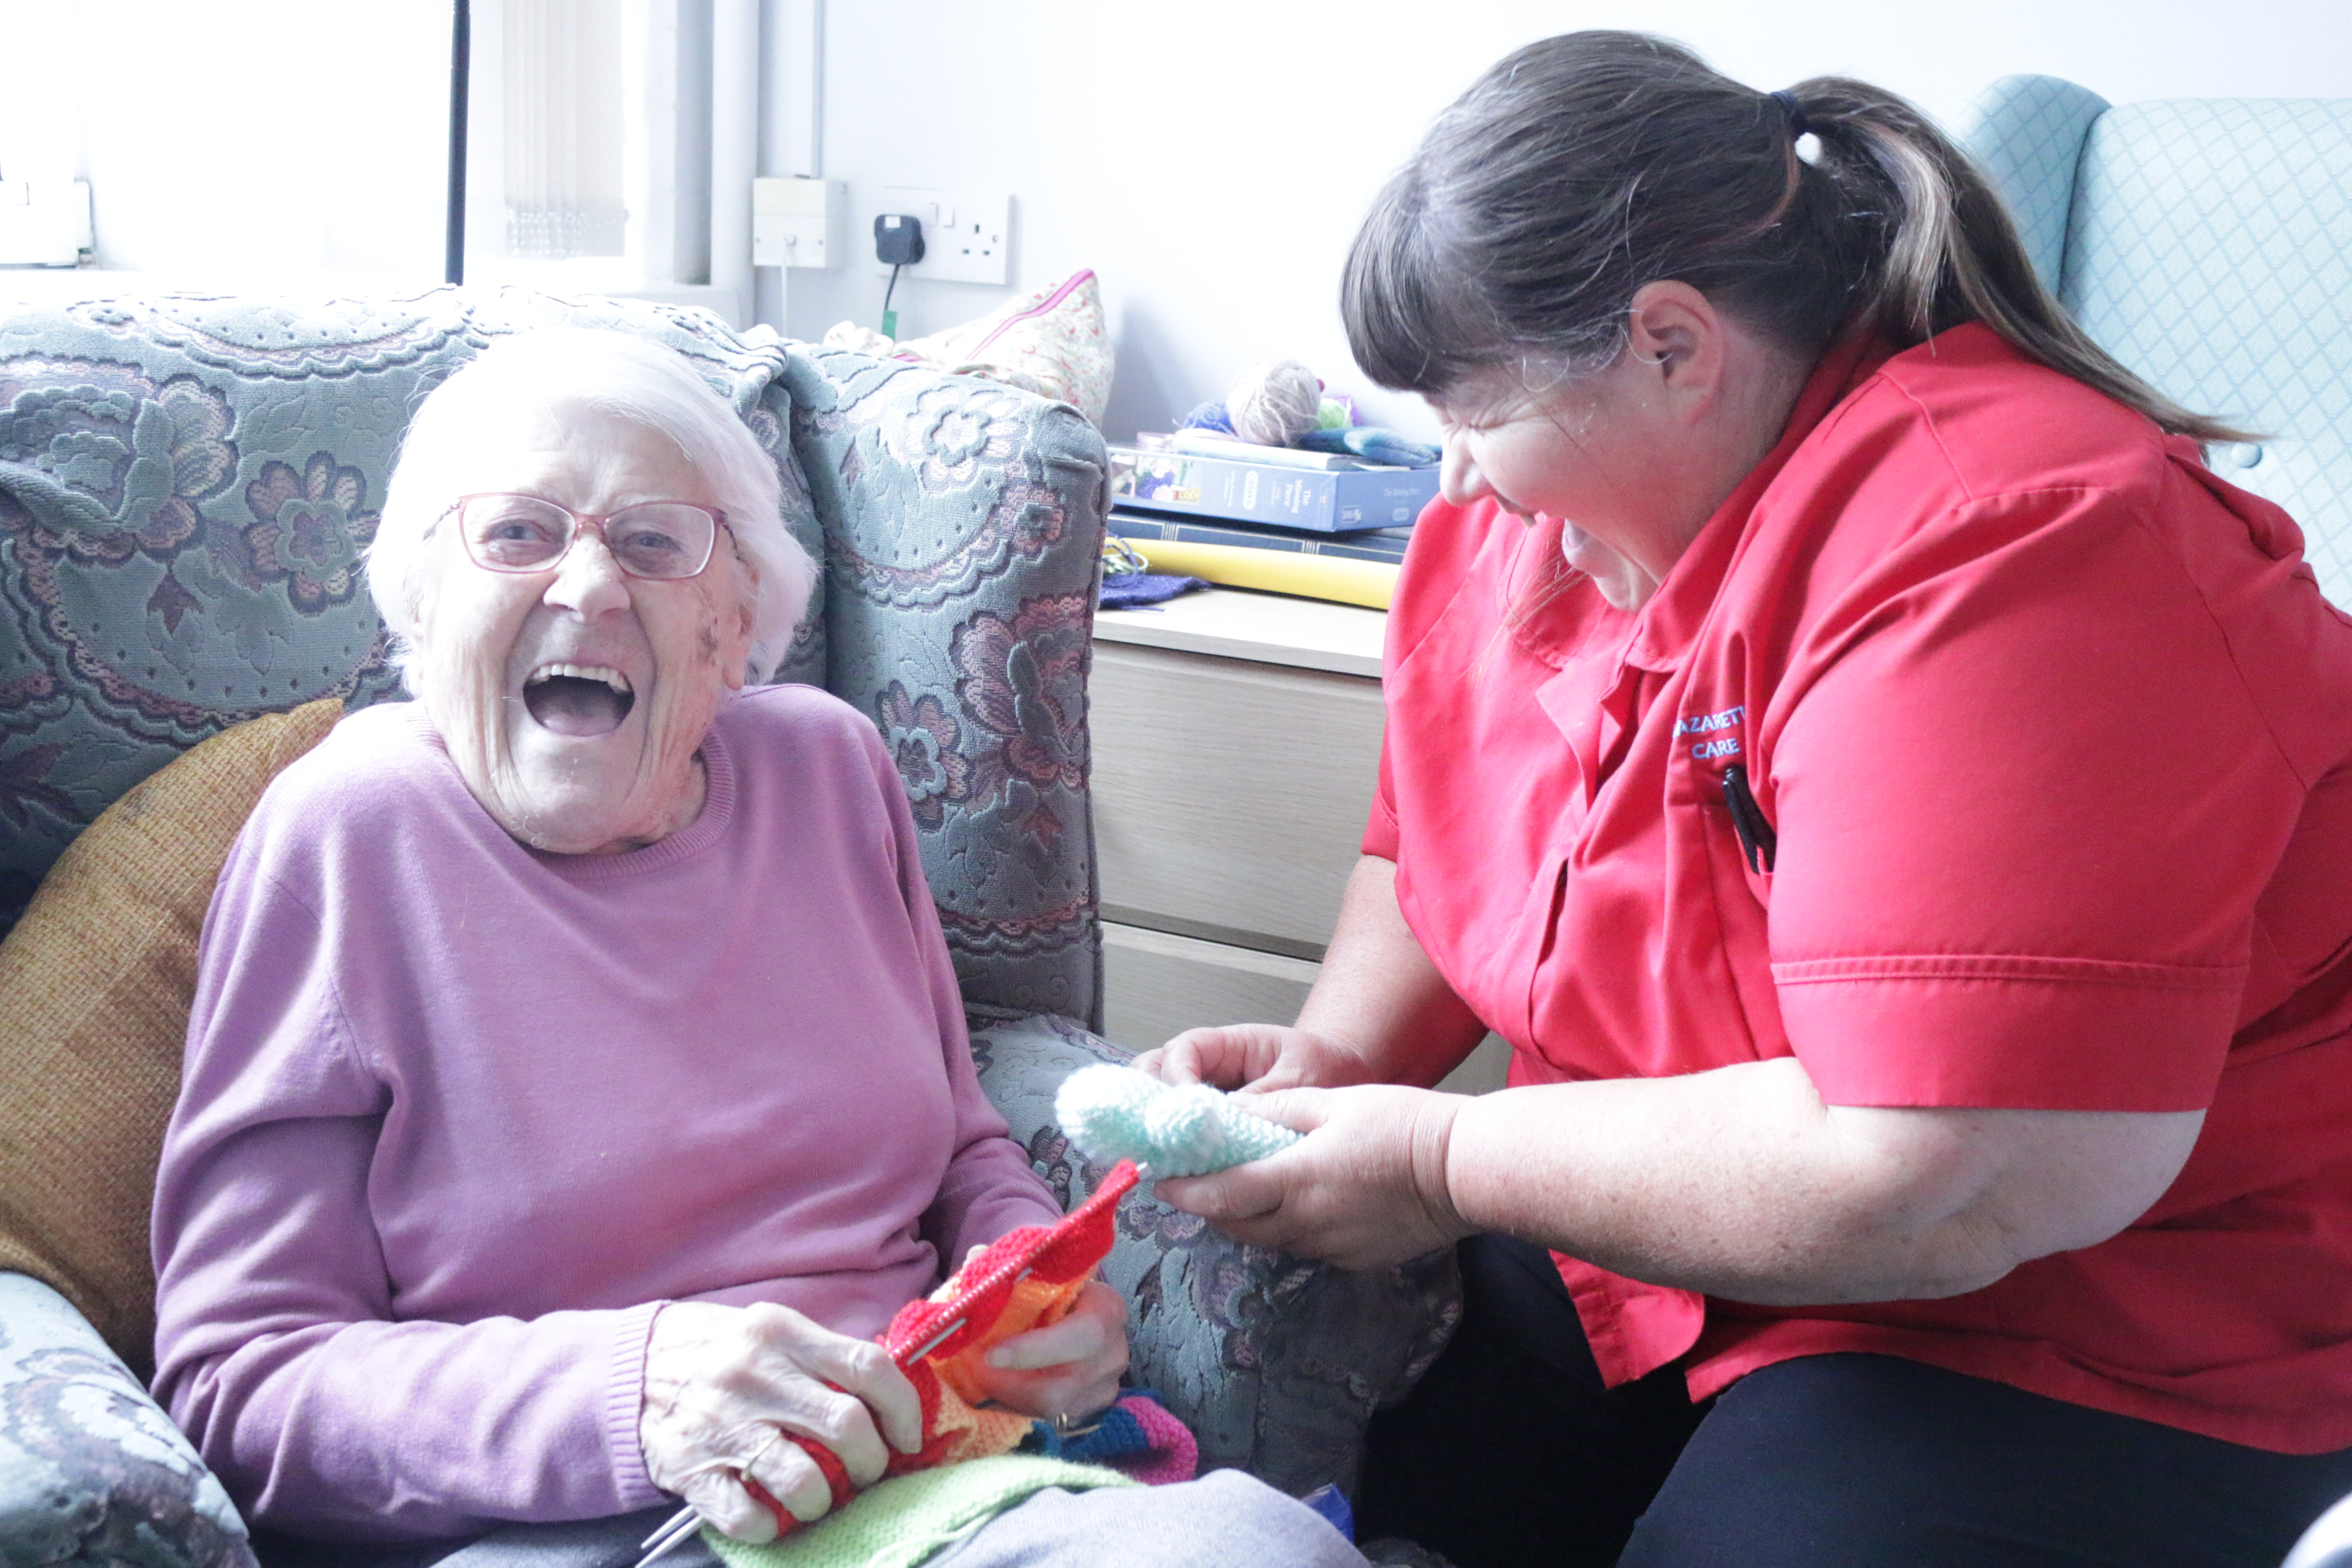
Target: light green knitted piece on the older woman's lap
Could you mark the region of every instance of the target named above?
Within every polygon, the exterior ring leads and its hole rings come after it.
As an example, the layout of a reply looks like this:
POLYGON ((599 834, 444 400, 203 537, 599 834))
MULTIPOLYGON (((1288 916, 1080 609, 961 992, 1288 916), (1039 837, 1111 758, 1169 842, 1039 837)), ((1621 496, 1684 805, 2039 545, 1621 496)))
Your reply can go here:
POLYGON ((764 1547, 748 1547, 708 1526, 703 1540, 727 1568, 915 1568, 1049 1486, 1084 1493, 1143 1483, 1101 1465, 1000 1453, 877 1481, 837 1512, 764 1547))

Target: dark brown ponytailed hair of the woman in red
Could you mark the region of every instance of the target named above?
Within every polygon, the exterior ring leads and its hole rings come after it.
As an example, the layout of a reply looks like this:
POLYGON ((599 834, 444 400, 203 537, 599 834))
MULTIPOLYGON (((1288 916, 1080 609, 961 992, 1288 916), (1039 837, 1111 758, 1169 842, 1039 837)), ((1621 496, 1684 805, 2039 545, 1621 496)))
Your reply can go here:
POLYGON ((2253 440, 2093 343, 1903 99, 1835 75, 1755 92, 1642 33, 1526 45, 1446 108, 1364 219, 1341 313, 1364 374, 1442 397, 1494 367, 1606 364, 1635 289, 1668 277, 1806 364, 1853 329, 1910 348, 1985 322, 2164 430, 2253 440))

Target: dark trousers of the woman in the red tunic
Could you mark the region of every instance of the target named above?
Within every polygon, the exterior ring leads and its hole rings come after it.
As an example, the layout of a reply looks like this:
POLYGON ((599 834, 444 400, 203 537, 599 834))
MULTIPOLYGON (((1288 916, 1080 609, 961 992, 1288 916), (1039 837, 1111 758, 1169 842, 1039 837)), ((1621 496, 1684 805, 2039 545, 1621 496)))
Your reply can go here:
POLYGON ((1896 1356, 1750 1373, 1693 1406, 1604 1389, 1550 1255, 1461 1246, 1463 1324, 1374 1420, 1357 1540, 1458 1568, 2277 1568, 2352 1493, 2284 1455, 1896 1356))

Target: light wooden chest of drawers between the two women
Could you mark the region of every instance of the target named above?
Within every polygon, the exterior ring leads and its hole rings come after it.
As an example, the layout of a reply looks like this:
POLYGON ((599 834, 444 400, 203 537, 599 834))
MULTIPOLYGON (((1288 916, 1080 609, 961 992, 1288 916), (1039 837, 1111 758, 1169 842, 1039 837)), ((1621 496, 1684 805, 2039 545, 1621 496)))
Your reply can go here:
MULTIPOLYGON (((1105 1030, 1289 1023, 1381 766, 1374 609, 1211 588, 1094 621, 1105 1030)), ((1494 1037, 1446 1081, 1503 1081, 1494 1037)))

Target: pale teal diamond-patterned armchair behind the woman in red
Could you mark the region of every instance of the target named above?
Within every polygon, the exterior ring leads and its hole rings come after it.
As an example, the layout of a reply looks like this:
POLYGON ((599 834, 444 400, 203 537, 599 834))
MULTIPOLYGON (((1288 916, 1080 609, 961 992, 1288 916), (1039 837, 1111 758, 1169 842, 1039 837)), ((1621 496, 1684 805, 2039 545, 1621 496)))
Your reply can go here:
POLYGON ((2352 607, 2352 99, 2107 103, 2011 75, 1964 139, 2107 353, 2265 437, 2213 470, 2284 505, 2352 607))

